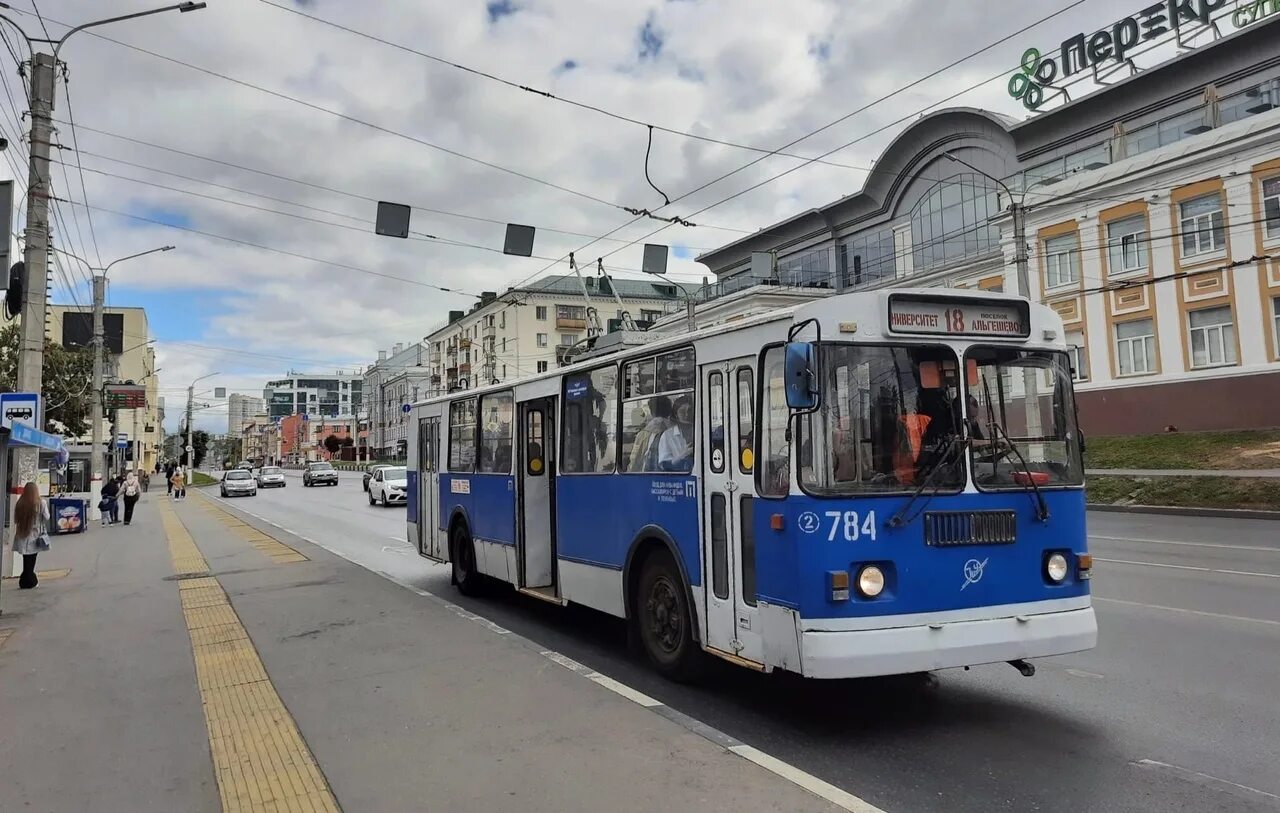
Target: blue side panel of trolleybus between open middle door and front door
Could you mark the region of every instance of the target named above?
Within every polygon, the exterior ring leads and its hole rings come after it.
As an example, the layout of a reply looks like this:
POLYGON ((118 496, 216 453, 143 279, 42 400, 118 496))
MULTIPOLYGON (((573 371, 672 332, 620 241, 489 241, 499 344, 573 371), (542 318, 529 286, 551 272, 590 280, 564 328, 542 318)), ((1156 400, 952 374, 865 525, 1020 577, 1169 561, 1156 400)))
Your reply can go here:
POLYGON ((645 526, 667 533, 690 584, 701 584, 698 481, 685 474, 581 474, 556 478, 558 556, 622 568, 645 526))

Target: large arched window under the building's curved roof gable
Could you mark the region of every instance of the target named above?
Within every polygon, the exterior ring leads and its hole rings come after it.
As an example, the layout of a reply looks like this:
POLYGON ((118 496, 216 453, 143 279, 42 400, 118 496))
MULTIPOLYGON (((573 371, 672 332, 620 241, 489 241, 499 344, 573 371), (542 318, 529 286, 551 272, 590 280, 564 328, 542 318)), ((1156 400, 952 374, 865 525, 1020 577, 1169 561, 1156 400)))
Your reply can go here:
POLYGON ((989 219, 1000 213, 996 189, 978 174, 938 182, 911 211, 911 251, 923 270, 1000 247, 1000 229, 989 219))

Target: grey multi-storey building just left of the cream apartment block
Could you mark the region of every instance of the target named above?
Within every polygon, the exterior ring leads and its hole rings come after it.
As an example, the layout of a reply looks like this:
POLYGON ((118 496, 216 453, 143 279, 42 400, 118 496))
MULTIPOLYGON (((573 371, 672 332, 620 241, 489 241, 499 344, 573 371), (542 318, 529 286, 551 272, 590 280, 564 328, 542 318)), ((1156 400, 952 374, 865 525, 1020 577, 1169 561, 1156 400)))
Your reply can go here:
POLYGON ((364 376, 365 442, 372 457, 396 457, 403 453, 407 425, 402 407, 426 397, 431 373, 428 369, 426 344, 397 343, 392 350, 378 351, 378 361, 369 365, 364 376))

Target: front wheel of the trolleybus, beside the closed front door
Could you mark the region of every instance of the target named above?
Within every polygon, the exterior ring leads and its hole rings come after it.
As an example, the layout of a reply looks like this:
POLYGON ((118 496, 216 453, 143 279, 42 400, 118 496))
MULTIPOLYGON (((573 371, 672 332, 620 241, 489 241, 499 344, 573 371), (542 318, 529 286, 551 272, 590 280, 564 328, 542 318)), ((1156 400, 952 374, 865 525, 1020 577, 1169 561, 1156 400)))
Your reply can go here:
POLYGON ((696 680, 707 666, 707 654, 694 638, 692 616, 671 554, 650 552, 632 595, 631 618, 649 661, 671 680, 696 680))

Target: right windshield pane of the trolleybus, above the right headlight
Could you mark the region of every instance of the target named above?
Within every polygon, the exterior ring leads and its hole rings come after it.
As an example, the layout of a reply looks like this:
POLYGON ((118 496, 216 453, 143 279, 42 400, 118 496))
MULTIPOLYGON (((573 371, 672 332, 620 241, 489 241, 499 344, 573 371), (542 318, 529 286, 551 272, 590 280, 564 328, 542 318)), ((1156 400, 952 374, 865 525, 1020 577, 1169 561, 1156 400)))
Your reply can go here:
POLYGON ((1080 485, 1071 362, 1056 351, 970 347, 969 453, 978 488, 1080 485))

